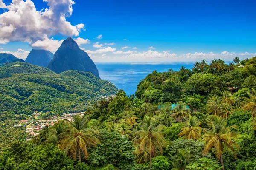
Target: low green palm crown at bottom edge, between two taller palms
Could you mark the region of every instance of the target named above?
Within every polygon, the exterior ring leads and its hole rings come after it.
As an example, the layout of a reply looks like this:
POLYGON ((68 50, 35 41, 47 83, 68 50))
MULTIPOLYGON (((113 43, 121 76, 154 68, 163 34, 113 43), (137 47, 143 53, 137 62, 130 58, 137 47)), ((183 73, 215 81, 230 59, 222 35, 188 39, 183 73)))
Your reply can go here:
POLYGON ((185 170, 186 166, 195 160, 195 156, 190 156, 185 150, 179 149, 177 152, 177 158, 173 162, 174 167, 172 170, 185 170))

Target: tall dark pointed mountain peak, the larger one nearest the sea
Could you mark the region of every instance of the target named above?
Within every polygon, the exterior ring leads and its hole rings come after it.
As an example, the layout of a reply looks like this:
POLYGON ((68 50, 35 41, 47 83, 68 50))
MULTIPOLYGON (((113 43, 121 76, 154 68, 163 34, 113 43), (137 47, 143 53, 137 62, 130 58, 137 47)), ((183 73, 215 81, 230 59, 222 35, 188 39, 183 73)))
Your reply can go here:
POLYGON ((55 52, 52 61, 49 63, 48 68, 56 73, 66 70, 91 72, 96 77, 99 77, 98 69, 93 60, 70 37, 62 42, 60 48, 55 52))

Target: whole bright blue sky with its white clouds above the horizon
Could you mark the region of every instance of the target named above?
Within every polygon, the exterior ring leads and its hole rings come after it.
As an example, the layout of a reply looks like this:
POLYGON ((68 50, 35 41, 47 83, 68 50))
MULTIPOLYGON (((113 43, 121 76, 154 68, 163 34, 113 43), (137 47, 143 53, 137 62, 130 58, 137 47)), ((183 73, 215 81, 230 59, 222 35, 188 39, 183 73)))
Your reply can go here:
POLYGON ((0 53, 72 37, 95 62, 256 56, 255 0, 0 0, 0 53))

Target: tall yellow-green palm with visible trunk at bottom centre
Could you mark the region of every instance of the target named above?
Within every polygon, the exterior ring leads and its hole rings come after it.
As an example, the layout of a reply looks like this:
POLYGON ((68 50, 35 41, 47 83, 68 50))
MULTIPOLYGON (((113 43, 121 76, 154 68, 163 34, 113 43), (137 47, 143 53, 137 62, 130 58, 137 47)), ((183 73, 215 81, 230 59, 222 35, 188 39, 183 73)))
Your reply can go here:
POLYGON ((163 125, 155 125, 154 120, 145 116, 144 120, 141 122, 141 130, 138 130, 134 133, 135 136, 138 136, 138 139, 135 139, 134 144, 138 144, 138 154, 149 153, 149 166, 151 170, 151 159, 156 156, 157 150, 160 152, 163 151, 163 146, 166 145, 165 140, 163 139, 163 125))

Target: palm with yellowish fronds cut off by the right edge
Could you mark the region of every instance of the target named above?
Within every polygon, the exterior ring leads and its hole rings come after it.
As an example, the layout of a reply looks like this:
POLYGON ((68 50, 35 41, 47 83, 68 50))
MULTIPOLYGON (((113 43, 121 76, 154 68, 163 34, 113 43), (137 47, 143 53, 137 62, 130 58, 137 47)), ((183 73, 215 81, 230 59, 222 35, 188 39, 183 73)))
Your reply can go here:
POLYGON ((249 92, 248 95, 250 96, 250 99, 247 101, 247 104, 242 107, 242 109, 251 111, 254 124, 253 130, 256 130, 256 120, 254 120, 256 114, 256 90, 252 88, 252 92, 249 92))

